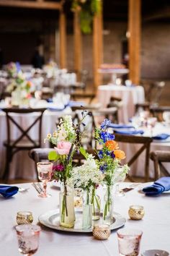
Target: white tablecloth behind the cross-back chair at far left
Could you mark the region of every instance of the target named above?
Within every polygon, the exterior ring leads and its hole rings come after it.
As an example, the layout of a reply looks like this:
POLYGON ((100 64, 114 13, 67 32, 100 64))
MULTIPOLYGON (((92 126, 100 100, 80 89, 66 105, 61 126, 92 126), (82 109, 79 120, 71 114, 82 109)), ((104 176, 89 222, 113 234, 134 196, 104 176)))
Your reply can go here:
MULTIPOLYGON (((46 135, 50 132, 53 132, 56 129, 55 122, 58 120, 58 117, 61 117, 63 113, 71 113, 71 108, 66 108, 65 111, 45 111, 42 117, 42 148, 48 148, 48 142, 44 143, 46 135)), ((23 127, 27 129, 29 124, 35 119, 34 113, 27 115, 27 118, 21 114, 14 114, 15 120, 23 127)), ((19 129, 13 127, 12 129, 12 138, 16 139, 19 137, 19 129)), ((30 135, 36 140, 38 136, 37 127, 33 127, 30 130, 30 135)), ((5 150, 6 148, 3 145, 4 140, 6 140, 6 116, 3 111, 0 112, 0 176, 4 171, 5 166, 5 150)), ((13 157, 11 166, 10 166, 10 175, 9 179, 36 179, 35 172, 35 163, 28 156, 28 151, 19 151, 13 157)))

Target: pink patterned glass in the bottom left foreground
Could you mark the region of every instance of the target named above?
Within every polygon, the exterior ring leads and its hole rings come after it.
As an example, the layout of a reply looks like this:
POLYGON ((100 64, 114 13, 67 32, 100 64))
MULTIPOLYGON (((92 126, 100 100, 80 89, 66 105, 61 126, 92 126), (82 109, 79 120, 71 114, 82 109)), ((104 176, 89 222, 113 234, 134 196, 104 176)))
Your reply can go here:
POLYGON ((22 255, 31 256, 37 252, 40 237, 40 226, 32 224, 17 225, 18 249, 22 255))

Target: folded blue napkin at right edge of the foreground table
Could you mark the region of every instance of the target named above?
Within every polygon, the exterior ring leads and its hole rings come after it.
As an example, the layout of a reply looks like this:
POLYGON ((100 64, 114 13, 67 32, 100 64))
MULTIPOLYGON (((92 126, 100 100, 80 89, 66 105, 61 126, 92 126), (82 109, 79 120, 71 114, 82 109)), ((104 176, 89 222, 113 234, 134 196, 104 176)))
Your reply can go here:
POLYGON ((170 177, 162 177, 154 182, 151 186, 144 187, 143 192, 146 195, 160 195, 170 189, 170 177))

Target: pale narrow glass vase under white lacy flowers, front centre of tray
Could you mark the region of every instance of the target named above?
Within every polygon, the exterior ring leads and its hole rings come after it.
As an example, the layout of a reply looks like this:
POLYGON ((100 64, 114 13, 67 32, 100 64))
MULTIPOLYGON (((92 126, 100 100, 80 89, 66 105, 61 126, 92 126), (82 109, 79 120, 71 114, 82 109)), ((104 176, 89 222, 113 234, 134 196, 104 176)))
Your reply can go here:
POLYGON ((84 191, 83 200, 83 229, 90 229, 92 226, 92 205, 91 205, 91 193, 89 190, 84 191))

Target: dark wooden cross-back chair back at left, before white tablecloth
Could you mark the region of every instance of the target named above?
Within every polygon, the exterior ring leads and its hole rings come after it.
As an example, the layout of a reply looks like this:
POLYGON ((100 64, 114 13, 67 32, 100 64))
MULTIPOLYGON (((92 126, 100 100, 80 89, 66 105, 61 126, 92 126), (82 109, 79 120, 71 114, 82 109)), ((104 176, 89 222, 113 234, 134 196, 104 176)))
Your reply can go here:
MULTIPOLYGON (((27 142, 29 142, 28 148, 40 148, 41 146, 41 131, 42 131, 42 114, 44 113, 46 108, 4 108, 2 111, 6 114, 6 127, 7 127, 7 146, 10 145, 12 148, 19 148, 19 143, 22 142, 24 138, 27 138, 27 142), (22 127, 22 124, 19 124, 16 121, 15 117, 20 115, 24 115, 26 118, 29 114, 36 113, 34 116, 34 121, 31 122, 27 126, 26 129, 22 127), (12 126, 13 125, 13 126, 12 126), (38 136, 37 140, 32 138, 30 135, 30 130, 37 125, 38 136), (17 137, 17 139, 12 140, 12 129, 17 128, 17 132, 20 132, 21 135, 17 137)), ((35 133, 35 132, 34 132, 35 133)), ((27 144, 27 145, 28 145, 27 144)))

